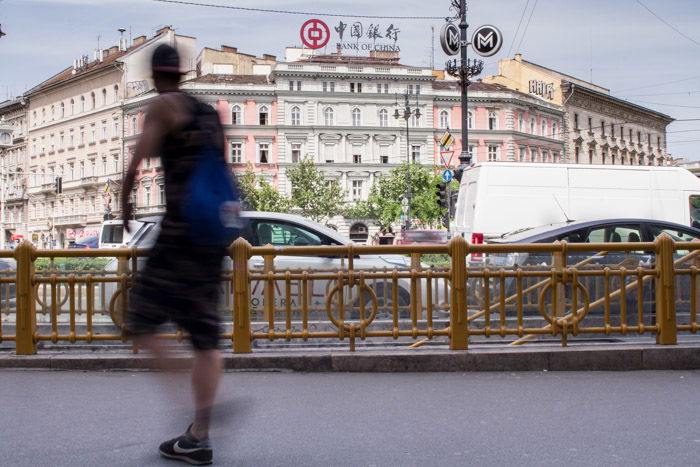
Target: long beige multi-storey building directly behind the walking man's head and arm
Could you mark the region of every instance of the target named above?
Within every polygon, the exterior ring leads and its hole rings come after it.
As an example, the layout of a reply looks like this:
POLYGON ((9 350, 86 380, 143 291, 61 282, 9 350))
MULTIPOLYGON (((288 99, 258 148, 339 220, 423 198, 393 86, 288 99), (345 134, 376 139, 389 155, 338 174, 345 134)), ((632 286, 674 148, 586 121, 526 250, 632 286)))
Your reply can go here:
POLYGON ((194 66, 195 39, 165 27, 130 46, 83 56, 29 90, 27 154, 28 237, 41 248, 61 248, 96 235, 119 214, 124 171, 124 126, 137 122, 124 99, 152 88, 150 56, 161 43, 177 45, 182 66, 194 66))

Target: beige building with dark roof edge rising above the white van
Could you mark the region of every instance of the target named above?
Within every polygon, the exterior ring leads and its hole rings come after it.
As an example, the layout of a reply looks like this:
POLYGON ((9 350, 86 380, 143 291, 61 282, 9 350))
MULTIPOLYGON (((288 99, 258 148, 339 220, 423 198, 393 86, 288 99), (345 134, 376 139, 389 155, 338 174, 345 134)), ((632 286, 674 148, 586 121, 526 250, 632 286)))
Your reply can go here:
MULTIPOLYGON (((483 79, 536 96, 564 109, 563 160, 577 164, 667 165, 667 115, 618 99, 609 89, 523 60, 499 61, 498 75, 483 79)), ((520 122, 523 128, 531 122, 520 122)))

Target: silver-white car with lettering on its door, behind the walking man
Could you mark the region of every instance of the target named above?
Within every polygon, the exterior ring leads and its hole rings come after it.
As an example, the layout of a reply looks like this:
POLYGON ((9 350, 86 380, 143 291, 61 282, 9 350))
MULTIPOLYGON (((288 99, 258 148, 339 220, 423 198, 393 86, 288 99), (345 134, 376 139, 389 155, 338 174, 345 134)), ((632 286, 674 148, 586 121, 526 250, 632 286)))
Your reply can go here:
MULTIPOLYGON (((272 245, 276 247, 288 246, 324 246, 324 245, 347 245, 350 240, 343 237, 335 230, 318 224, 316 222, 305 219, 301 216, 292 214, 281 214, 272 212, 257 212, 245 211, 241 213, 249 221, 250 228, 243 233, 243 237, 252 246, 272 245)), ((132 240, 128 246, 138 246, 140 248, 150 248, 154 245, 159 231, 159 222, 145 223, 139 230, 134 232, 132 240)), ((347 258, 341 258, 333 255, 318 255, 318 256, 278 256, 275 258, 275 269, 286 270, 309 270, 309 271, 337 271, 340 268, 347 267, 347 258)), ((224 269, 231 270, 231 260, 226 259, 224 269)), ((353 266, 356 270, 393 270, 394 268, 408 269, 410 267, 410 258, 404 255, 381 254, 381 255, 357 255, 353 258, 353 266)), ((428 265, 425 265, 429 268, 428 265)), ((260 256, 253 256, 249 261, 249 268, 253 272, 261 272, 264 268, 264 259, 260 256)), ((116 269, 116 260, 110 263, 107 270, 116 269)), ((292 306, 299 307, 301 281, 293 281, 291 284, 292 306)), ((331 280, 313 280, 310 281, 311 299, 310 306, 317 310, 325 309, 326 298, 335 281, 331 280)), ((389 317, 391 315, 391 307, 393 303, 393 285, 390 279, 377 279, 367 281, 368 287, 372 289, 377 296, 377 305, 379 308, 379 317, 389 317)), ((229 285, 230 287, 230 285, 229 285)), ((350 288, 346 287, 346 291, 350 288)), ((345 303, 358 305, 359 294, 358 287, 353 287, 352 296, 344 298, 345 303)), ((398 290, 396 297, 398 306, 401 307, 401 316, 407 316, 409 313, 410 304, 410 280, 399 279, 398 290)), ((440 304, 443 302, 444 288, 433 287, 435 296, 433 303, 440 304)), ((275 308, 284 309, 286 287, 284 281, 278 281, 275 285, 275 308)), ((365 303, 370 299, 369 292, 364 294, 365 303)), ((425 301, 425 293, 422 294, 425 301)), ((444 303, 443 303, 444 305, 444 303)), ((251 284, 251 308, 254 311, 263 311, 264 309, 264 281, 253 281, 251 284)), ((354 306, 355 309, 359 306, 354 306)), ((355 310, 355 315, 357 314, 355 310)), ((354 316, 354 315, 352 315, 354 316)), ((351 318, 352 316, 346 316, 351 318)))

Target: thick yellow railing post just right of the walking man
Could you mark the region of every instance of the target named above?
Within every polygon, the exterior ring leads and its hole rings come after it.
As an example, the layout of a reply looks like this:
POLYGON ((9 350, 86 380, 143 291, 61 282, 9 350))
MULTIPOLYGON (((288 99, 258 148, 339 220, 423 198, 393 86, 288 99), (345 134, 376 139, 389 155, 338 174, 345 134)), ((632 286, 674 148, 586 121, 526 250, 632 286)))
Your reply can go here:
POLYGON ((251 353, 250 243, 243 237, 233 242, 233 353, 251 353))

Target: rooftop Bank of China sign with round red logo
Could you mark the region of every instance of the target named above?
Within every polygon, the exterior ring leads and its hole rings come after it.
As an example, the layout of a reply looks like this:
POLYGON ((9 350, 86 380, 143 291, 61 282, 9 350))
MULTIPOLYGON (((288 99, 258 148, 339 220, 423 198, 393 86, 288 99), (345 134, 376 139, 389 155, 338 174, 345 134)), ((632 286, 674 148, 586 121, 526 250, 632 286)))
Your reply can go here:
POLYGON ((400 52, 398 45, 401 30, 394 23, 339 21, 331 28, 320 19, 306 21, 299 31, 301 42, 310 49, 320 49, 328 45, 333 35, 334 42, 341 50, 379 52, 400 52))

